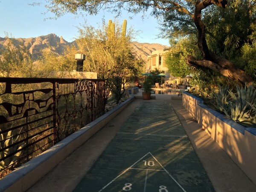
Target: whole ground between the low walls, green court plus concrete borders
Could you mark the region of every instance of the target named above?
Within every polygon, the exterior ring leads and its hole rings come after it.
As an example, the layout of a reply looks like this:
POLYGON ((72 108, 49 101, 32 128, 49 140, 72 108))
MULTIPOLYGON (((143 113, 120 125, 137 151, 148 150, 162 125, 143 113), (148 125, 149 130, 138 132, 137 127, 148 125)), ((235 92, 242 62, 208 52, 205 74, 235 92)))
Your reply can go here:
POLYGON ((256 186, 180 99, 156 95, 146 102, 135 99, 29 191, 74 189, 249 192, 256 186))

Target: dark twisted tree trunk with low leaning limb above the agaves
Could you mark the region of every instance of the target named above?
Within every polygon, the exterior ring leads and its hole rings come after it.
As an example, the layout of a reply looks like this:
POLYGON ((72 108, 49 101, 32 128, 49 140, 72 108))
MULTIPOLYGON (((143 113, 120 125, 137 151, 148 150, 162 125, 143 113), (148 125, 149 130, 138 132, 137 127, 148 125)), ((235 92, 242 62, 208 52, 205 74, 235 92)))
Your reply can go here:
POLYGON ((193 66, 210 68, 213 71, 216 71, 224 76, 229 77, 230 79, 235 79, 242 83, 247 83, 249 85, 253 84, 253 79, 249 75, 247 75, 243 70, 235 68, 230 60, 215 55, 211 51, 209 51, 205 39, 205 25, 201 20, 201 11, 212 4, 222 6, 223 8, 225 8, 225 6, 227 5, 227 1, 222 0, 219 2, 218 0, 204 0, 198 1, 196 3, 193 19, 198 29, 198 48, 201 51, 204 59, 197 61, 193 59, 192 56, 188 56, 187 63, 193 66))

